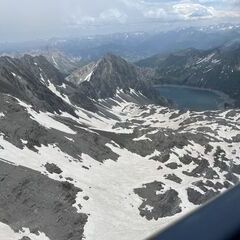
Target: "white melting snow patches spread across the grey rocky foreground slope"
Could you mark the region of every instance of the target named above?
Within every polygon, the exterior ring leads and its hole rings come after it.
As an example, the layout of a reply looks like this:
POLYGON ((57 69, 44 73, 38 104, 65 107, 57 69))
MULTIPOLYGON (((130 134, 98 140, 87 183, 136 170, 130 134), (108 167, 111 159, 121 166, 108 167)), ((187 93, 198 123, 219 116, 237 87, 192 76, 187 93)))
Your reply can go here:
MULTIPOLYGON (((55 89, 52 90, 55 91, 55 89)), ((154 105, 140 108, 134 103, 125 101, 121 94, 122 92, 119 90, 117 98, 111 99, 113 103, 112 106, 107 107, 107 101, 105 100, 102 100, 100 103, 100 107, 109 111, 116 119, 119 119, 118 121, 111 118, 105 118, 103 115, 97 113, 90 113, 78 107, 76 107, 76 113, 79 119, 67 113, 62 113, 62 116, 72 118, 76 122, 85 124, 90 128, 86 128, 86 130, 88 129, 89 131, 94 131, 95 128, 112 132, 126 131, 131 133, 133 129, 121 127, 115 129, 114 125, 121 121, 129 122, 131 120, 139 120, 141 121, 140 125, 142 127, 148 127, 150 125, 156 128, 150 131, 148 133, 149 135, 156 134, 163 128, 170 128, 173 130, 180 129, 183 127, 182 123, 190 117, 198 118, 202 116, 200 113, 186 112, 178 117, 172 117, 173 114, 179 114, 179 111, 156 107, 154 105)), ((132 94, 134 93, 132 92, 132 94)), ((27 109, 31 118, 46 128, 54 128, 66 133, 75 134, 69 127, 53 119, 52 117, 54 115, 43 112, 37 113, 31 109, 31 106, 21 101, 19 101, 19 103, 27 109)), ((217 117, 221 118, 226 117, 228 113, 229 111, 219 113, 218 115, 217 113, 215 114, 217 117)), ((231 121, 236 121, 236 117, 232 119, 229 118, 230 124, 231 121)), ((132 125, 133 128, 139 126, 137 123, 136 125, 132 123, 132 125)), ((197 120, 187 124, 182 132, 187 131, 197 134, 197 128, 205 126, 215 131, 216 135, 218 135, 218 142, 211 143, 213 150, 209 153, 205 153, 205 146, 201 146, 194 141, 189 141, 189 144, 182 149, 176 147, 172 148, 169 161, 175 162, 178 165, 181 164, 180 170, 170 169, 161 162, 151 160, 151 157, 161 155, 161 152, 157 150, 146 157, 142 157, 125 148, 120 148, 114 143, 108 143, 106 147, 119 155, 116 162, 107 159, 104 163, 100 163, 87 154, 82 154, 82 162, 79 162, 74 161, 75 159, 62 152, 56 145, 37 147, 38 152, 33 152, 27 147, 21 150, 7 142, 3 136, 0 136, 0 145, 3 147, 0 151, 0 158, 3 161, 10 161, 12 164, 22 165, 43 174, 46 174, 44 165, 46 163, 54 163, 63 170, 61 174, 63 179, 60 179, 57 174, 48 174, 48 177, 58 181, 64 181, 67 177, 74 179, 74 185, 83 190, 83 192, 78 193, 74 207, 76 207, 78 211, 89 214, 88 222, 84 228, 86 240, 112 240, 118 239, 119 236, 121 236, 121 240, 144 239, 197 207, 189 202, 186 189, 191 187, 201 192, 201 190, 192 183, 197 180, 204 181, 205 178, 204 176, 196 178, 183 174, 184 171, 192 171, 197 165, 194 162, 189 165, 184 165, 181 163, 180 157, 184 157, 188 154, 195 158, 201 157, 208 160, 210 167, 216 169, 220 176, 220 180, 212 180, 212 182, 217 182, 221 181, 221 179, 225 179, 225 173, 214 167, 213 153, 217 147, 221 145, 227 152, 228 158, 234 159, 234 154, 232 153, 233 149, 238 149, 236 150, 236 154, 238 156, 240 155, 238 143, 235 145, 233 144, 232 148, 230 148, 227 143, 223 142, 225 138, 231 139, 236 136, 240 131, 239 128, 233 128, 230 125, 223 126, 213 121, 197 120), (17 158, 16 155, 18 156, 17 158), (89 166, 89 169, 86 170, 83 168, 83 165, 89 166), (159 166, 161 169, 159 169, 159 166), (176 173, 182 180, 181 184, 166 179, 166 175, 173 173, 176 173), (142 199, 134 194, 134 189, 142 187, 144 183, 153 181, 159 181, 165 184, 164 189, 159 193, 167 191, 170 188, 178 192, 178 196, 182 201, 180 205, 183 209, 182 213, 172 217, 161 218, 158 221, 148 221, 140 216, 138 207, 141 205, 142 199), (89 200, 84 200, 84 196, 88 196, 89 200), (81 210, 78 204, 81 204, 81 210), (131 223, 131 227, 129 223, 131 223)), ((134 141, 146 140, 148 139, 148 134, 143 134, 135 138, 134 141)), ((65 138, 73 141, 70 137, 65 138)), ((147 209, 149 211, 152 210, 151 206, 147 206, 147 209)))

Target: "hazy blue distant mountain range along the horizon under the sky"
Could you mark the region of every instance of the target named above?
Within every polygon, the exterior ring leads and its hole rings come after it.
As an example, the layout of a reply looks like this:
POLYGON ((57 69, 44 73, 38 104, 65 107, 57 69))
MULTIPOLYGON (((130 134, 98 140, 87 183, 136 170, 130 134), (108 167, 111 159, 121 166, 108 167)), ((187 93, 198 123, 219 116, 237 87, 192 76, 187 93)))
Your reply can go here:
POLYGON ((184 28, 166 32, 133 32, 90 36, 75 39, 51 39, 25 43, 0 44, 0 54, 49 54, 59 51, 64 55, 95 61, 111 52, 129 61, 137 61, 156 53, 168 54, 186 48, 211 49, 240 38, 240 26, 220 24, 202 28, 184 28))

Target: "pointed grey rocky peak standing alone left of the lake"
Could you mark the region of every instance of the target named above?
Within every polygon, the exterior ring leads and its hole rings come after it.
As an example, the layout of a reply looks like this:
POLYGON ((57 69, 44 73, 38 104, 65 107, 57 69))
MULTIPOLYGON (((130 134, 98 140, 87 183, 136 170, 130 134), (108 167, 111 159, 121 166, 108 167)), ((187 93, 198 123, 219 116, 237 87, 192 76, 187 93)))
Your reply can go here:
POLYGON ((158 92, 141 78, 141 72, 134 65, 108 54, 97 63, 90 63, 75 71, 67 80, 77 84, 83 94, 93 99, 113 97, 118 89, 125 92, 134 89, 164 104, 158 92))

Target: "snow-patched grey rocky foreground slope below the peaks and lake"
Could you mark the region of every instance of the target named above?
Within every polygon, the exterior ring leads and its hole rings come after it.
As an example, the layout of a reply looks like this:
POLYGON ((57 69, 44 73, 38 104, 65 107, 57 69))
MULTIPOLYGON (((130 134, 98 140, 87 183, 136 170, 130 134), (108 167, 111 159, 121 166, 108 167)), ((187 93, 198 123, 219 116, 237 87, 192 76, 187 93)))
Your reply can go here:
MULTIPOLYGON (((20 83, 32 78, 7 75, 10 62, 1 86, 28 93, 20 83)), ((78 103, 81 84, 41 69, 36 101, 0 91, 5 239, 145 239, 238 183, 239 110, 180 112, 122 85, 78 103)))

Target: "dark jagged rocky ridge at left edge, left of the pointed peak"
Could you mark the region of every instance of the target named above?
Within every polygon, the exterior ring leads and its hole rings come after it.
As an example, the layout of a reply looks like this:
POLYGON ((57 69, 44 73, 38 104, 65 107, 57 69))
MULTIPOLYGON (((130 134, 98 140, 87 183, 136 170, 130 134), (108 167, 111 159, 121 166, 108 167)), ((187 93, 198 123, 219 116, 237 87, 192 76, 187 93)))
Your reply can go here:
POLYGON ((20 59, 0 58, 1 93, 10 94, 28 102, 39 110, 50 112, 73 111, 48 88, 61 86, 64 77, 44 57, 25 55, 20 59))

